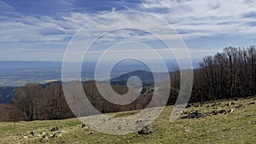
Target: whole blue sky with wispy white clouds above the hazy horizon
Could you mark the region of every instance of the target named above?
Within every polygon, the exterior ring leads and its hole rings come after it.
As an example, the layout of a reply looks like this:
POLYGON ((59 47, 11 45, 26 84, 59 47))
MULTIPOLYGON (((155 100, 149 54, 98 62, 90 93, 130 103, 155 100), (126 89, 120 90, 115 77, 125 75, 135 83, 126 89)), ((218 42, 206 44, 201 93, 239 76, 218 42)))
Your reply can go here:
MULTIPOLYGON (((120 26, 119 23, 131 23, 138 28, 150 29, 170 43, 180 40, 174 38, 173 32, 177 32, 191 57, 202 58, 228 46, 254 45, 255 7, 254 0, 0 0, 0 60, 61 61, 73 36, 88 23, 91 25, 87 26, 84 35, 80 35, 82 41, 89 42, 92 37, 120 26), (143 14, 123 14, 123 10, 144 12, 153 18, 146 16, 146 19, 143 14), (109 19, 90 22, 109 13, 109 19), (172 31, 154 16, 166 21, 172 31)), ((150 32, 132 29, 108 32, 97 39, 86 59, 99 59, 104 50, 114 45, 113 42, 118 43, 119 48, 113 49, 109 60, 125 53, 152 59, 150 50, 141 43, 168 58, 165 46, 150 32), (140 44, 124 44, 130 40, 140 44)), ((174 50, 180 49, 175 44, 172 46, 176 48, 174 50)))

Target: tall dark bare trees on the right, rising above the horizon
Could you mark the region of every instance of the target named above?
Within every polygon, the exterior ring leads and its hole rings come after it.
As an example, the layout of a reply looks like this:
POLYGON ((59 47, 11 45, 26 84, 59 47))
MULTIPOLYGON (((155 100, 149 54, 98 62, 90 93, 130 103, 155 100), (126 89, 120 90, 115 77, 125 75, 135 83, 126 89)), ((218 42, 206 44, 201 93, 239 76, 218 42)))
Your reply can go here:
MULTIPOLYGON (((177 99, 179 71, 170 75, 171 104, 177 99)), ((245 98, 256 95, 256 49, 227 47, 216 55, 207 55, 194 70, 190 102, 245 98)))

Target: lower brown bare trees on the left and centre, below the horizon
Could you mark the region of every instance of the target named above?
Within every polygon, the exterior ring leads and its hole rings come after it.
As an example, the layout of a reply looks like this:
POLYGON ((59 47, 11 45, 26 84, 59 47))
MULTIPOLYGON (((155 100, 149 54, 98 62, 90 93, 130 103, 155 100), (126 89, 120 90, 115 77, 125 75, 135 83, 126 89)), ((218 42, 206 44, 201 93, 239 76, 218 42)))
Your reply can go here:
MULTIPOLYGON (((84 94, 93 107, 99 112, 122 112, 143 109, 148 106, 152 93, 141 94, 129 105, 116 105, 105 100, 96 89, 96 82, 83 83, 84 94)), ((112 85, 119 95, 125 95, 128 88, 121 85, 112 85)), ((108 93, 108 89, 105 90, 108 93)), ((49 84, 45 88, 41 84, 26 84, 18 89, 9 108, 11 121, 32 121, 43 119, 62 119, 75 117, 67 105, 66 97, 61 84, 49 84)), ((90 115, 90 114, 88 114, 90 115)), ((86 115, 83 115, 86 116, 86 115)))

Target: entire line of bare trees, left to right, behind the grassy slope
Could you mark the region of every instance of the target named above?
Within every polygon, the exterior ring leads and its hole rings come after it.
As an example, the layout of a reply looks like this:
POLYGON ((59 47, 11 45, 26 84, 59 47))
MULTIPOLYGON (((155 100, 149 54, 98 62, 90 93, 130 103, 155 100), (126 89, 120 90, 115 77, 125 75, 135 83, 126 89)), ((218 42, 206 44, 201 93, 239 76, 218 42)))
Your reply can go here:
MULTIPOLYGON (((216 55, 203 58, 194 70, 194 85, 190 102, 214 101, 256 95, 256 49, 228 47, 216 55)), ((167 105, 177 100, 180 86, 179 71, 171 72, 171 89, 167 105)), ((152 86, 154 87, 154 86, 152 86)), ((95 81, 84 82, 84 93, 90 103, 100 112, 120 112, 143 109, 154 94, 152 87, 141 93, 128 105, 116 105, 106 101, 96 89, 95 81)), ((115 92, 124 95, 128 88, 112 85, 115 92)), ((108 89, 106 89, 108 93, 108 89)), ((154 101, 157 103, 157 101, 154 101)), ((61 84, 26 84, 18 89, 10 102, 11 120, 61 119, 74 117, 63 94, 61 84)))

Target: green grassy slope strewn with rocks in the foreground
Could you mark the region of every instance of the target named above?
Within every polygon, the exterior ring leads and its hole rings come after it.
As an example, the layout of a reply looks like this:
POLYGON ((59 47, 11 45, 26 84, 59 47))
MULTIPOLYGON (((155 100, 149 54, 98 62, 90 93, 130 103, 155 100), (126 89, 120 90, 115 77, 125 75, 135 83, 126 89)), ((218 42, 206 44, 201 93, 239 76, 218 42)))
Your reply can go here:
MULTIPOLYGON (((0 143, 40 143, 40 138, 30 135, 30 131, 50 134, 50 129, 55 126, 67 132, 60 137, 49 138, 45 143, 256 143, 256 105, 248 105, 251 101, 255 99, 238 100, 235 101, 236 105, 229 107, 222 106, 232 101, 220 101, 218 110, 234 109, 234 112, 207 118, 178 119, 174 123, 169 122, 172 107, 166 107, 151 124, 154 133, 150 135, 105 135, 96 131, 90 134, 93 130, 82 129, 81 122, 76 118, 0 123, 0 143), (239 104, 245 107, 236 108, 239 104)), ((211 105, 212 103, 208 103, 201 107, 189 107, 186 111, 212 112, 213 107, 207 107, 211 105)), ((120 112, 111 114, 119 115, 120 112)))

